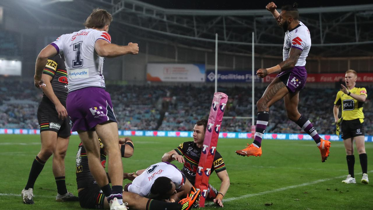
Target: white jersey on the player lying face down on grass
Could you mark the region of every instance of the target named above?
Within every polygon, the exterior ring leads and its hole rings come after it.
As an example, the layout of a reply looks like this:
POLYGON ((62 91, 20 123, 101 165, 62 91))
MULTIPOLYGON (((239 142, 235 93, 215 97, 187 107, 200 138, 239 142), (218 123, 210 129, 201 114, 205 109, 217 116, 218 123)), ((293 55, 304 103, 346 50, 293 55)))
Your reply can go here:
POLYGON ((175 183, 176 189, 184 185, 184 178, 179 169, 172 164, 156 163, 149 166, 145 171, 136 177, 131 185, 128 186, 128 192, 134 192, 142 197, 153 198, 154 195, 150 193, 150 188, 154 181, 161 176, 166 176, 175 183))

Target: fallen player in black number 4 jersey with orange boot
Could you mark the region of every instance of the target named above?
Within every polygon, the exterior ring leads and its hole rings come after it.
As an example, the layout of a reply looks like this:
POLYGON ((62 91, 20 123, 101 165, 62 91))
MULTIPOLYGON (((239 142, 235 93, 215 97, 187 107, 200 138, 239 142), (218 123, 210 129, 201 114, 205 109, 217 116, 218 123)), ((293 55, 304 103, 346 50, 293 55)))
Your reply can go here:
MULTIPOLYGON (((122 157, 131 157, 134 152, 134 146, 130 138, 121 138, 119 140, 120 151, 122 157)), ((106 150, 99 140, 101 164, 105 167, 106 163, 106 150)), ((109 209, 109 202, 104 199, 105 196, 94 179, 88 167, 87 152, 85 151, 82 143, 79 145, 76 154, 76 183, 78 185, 79 203, 82 208, 87 209, 109 209)), ((153 199, 144 198, 132 192, 123 191, 123 202, 126 202, 129 208, 137 210, 189 210, 198 201, 200 191, 190 192, 186 198, 182 199, 179 203, 166 203, 153 199)))

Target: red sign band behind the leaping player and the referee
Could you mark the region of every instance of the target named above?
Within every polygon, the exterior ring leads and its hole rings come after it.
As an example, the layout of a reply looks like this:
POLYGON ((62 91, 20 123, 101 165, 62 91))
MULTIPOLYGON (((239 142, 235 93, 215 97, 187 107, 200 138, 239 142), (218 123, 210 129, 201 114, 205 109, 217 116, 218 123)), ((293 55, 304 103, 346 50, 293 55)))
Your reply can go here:
MULTIPOLYGON (((276 77, 276 74, 267 75, 263 78, 263 82, 271 82, 276 77)), ((307 82, 308 83, 319 83, 319 82, 339 82, 344 80, 345 75, 340 74, 308 74, 307 82)), ((357 82, 373 82, 373 73, 358 73, 357 82)))

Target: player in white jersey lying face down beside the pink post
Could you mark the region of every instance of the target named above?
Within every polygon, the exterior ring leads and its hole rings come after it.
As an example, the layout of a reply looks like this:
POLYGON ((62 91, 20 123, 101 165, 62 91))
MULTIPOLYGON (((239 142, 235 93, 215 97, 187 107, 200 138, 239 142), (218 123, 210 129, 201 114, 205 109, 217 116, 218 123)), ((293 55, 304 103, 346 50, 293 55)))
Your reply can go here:
POLYGON ((176 202, 188 194, 192 184, 173 164, 160 162, 147 169, 138 170, 132 183, 124 191, 134 192, 145 198, 169 199, 176 202), (137 175, 137 176, 136 176, 137 175))

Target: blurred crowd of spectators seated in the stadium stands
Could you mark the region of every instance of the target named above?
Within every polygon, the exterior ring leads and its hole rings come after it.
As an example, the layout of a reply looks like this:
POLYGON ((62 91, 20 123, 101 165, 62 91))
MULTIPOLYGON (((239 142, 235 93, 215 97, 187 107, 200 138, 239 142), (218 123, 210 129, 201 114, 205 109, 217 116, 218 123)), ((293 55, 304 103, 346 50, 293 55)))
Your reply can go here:
MULTIPOLYGON (((30 82, 1 81, 0 128, 38 129, 37 108, 42 92, 30 82)), ((120 130, 192 130, 200 118, 208 118, 213 98, 213 87, 191 85, 108 85, 114 112, 120 130)), ((251 116, 251 88, 219 88, 229 96, 225 117, 251 116)), ((307 117, 319 133, 335 133, 333 102, 338 89, 312 89, 300 92, 298 110, 307 117)), ((364 104, 366 134, 373 132, 372 100, 364 104)), ((263 88, 255 89, 255 101, 263 94, 263 88)), ((251 132, 251 119, 225 118, 225 132, 251 132)), ((270 108, 270 121, 266 132, 304 133, 297 124, 288 120, 283 100, 270 108)))

